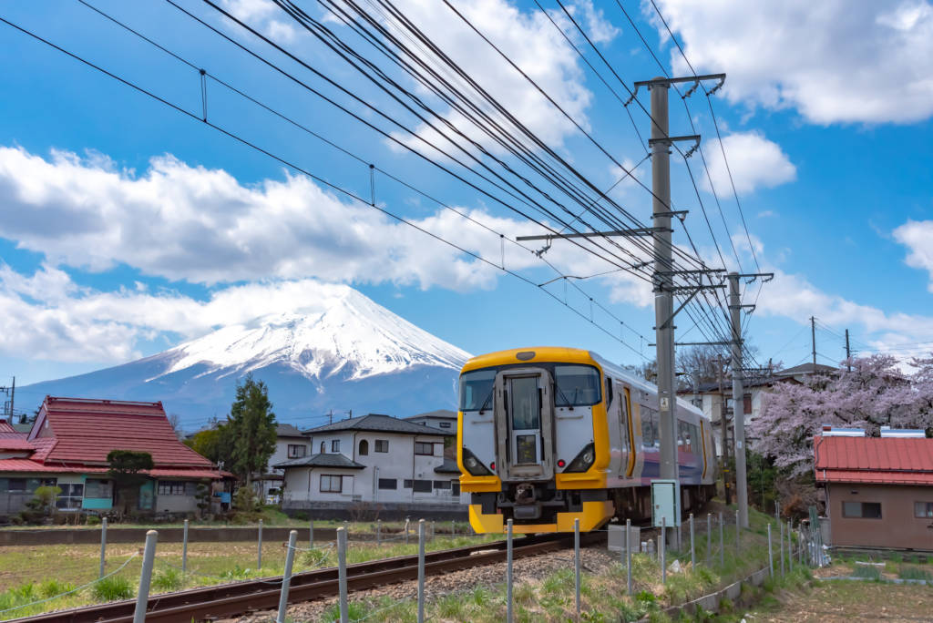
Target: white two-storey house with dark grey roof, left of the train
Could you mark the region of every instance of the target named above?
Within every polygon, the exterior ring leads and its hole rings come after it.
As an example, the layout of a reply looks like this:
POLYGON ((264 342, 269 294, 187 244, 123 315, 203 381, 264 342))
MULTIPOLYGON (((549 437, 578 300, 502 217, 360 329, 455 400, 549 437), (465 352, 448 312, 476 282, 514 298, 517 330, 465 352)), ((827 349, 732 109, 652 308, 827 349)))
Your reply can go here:
POLYGON ((305 431, 312 453, 273 464, 285 471, 283 508, 316 517, 465 517, 460 471, 444 457, 453 433, 379 414, 305 431))

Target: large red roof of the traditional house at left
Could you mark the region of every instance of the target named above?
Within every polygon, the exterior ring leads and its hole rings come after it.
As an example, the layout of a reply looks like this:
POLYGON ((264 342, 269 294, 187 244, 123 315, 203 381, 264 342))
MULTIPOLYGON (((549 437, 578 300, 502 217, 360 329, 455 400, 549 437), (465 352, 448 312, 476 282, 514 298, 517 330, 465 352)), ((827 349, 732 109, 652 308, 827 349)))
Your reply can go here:
POLYGON ((56 439, 47 463, 106 464, 110 450, 139 450, 150 453, 157 467, 212 467, 178 440, 161 403, 49 397, 43 409, 56 439))

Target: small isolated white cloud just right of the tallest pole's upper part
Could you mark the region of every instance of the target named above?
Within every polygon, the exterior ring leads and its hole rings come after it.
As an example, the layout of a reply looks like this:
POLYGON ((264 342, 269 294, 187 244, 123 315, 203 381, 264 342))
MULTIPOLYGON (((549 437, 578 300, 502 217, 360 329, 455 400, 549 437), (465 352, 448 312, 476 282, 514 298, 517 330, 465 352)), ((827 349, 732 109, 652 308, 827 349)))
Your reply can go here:
POLYGON ((769 141, 760 132, 736 132, 722 138, 722 149, 718 141, 703 146, 703 154, 709 165, 709 177, 703 177, 703 189, 713 188, 720 196, 731 194, 729 172, 735 182, 735 190, 746 195, 754 190, 771 188, 797 177, 797 167, 781 151, 780 145, 769 141), (729 159, 729 168, 722 158, 722 149, 729 159))

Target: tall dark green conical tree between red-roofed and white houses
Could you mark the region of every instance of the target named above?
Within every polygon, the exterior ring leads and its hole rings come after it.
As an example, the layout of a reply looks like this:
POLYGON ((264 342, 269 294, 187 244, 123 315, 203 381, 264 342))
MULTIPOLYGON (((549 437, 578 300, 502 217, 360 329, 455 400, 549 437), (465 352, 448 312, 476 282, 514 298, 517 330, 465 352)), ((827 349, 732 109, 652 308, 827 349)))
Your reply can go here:
POLYGON ((228 468, 249 486, 253 474, 261 473, 269 463, 276 438, 269 389, 264 382, 254 381, 252 374, 246 375, 242 384, 237 383, 224 437, 230 449, 228 468))

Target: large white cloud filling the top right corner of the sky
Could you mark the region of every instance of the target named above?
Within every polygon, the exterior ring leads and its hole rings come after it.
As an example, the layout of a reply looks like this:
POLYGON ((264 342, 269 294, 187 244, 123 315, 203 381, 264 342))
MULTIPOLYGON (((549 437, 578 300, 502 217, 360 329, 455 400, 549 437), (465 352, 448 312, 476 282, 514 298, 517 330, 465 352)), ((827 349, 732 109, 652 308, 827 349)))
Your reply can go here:
MULTIPOLYGON (((927 0, 658 5, 698 72, 728 73, 724 92, 733 103, 792 106, 819 124, 910 123, 933 114, 927 0)), ((676 48, 671 53, 677 73, 689 71, 676 48)))

